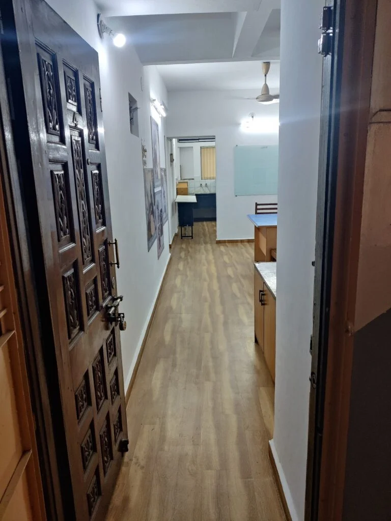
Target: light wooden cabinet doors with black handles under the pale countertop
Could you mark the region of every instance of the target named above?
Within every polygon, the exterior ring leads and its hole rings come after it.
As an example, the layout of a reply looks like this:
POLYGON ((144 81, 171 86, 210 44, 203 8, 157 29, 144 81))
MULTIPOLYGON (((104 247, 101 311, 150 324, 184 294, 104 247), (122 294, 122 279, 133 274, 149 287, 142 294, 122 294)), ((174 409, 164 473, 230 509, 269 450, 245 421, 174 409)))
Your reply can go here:
POLYGON ((276 300, 258 270, 254 273, 254 331, 265 355, 266 365, 275 381, 276 376, 276 300))

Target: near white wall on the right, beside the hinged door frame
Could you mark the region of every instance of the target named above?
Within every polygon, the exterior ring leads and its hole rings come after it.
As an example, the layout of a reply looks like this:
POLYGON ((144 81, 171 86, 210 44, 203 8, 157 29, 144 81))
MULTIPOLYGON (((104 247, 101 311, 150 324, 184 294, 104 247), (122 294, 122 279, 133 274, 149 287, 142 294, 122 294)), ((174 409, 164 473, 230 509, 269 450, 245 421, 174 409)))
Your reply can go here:
POLYGON ((282 0, 275 429, 292 519, 304 519, 322 58, 321 0, 282 0), (295 59, 296 57, 296 59, 295 59), (297 57, 300 57, 298 73, 297 57))

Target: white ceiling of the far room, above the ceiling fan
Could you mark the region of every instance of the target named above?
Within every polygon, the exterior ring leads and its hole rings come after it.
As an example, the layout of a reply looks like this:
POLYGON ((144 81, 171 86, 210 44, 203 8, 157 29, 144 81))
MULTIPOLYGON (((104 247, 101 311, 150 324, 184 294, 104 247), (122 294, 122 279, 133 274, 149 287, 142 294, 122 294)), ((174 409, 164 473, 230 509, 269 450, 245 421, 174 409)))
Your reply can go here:
MULTIPOLYGON (((168 91, 259 90, 264 82, 261 61, 223 61, 158 65, 168 91)), ((272 61, 267 75, 271 94, 278 93, 279 61, 272 61)))

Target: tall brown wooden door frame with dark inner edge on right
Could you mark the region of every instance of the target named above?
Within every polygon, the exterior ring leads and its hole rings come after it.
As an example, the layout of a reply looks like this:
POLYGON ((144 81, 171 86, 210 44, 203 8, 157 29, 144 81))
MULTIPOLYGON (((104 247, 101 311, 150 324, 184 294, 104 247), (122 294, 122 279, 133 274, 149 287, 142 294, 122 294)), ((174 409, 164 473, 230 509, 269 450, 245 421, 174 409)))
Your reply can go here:
MULTIPOLYGON (((326 5, 334 6, 335 55, 329 60, 335 63, 329 75, 331 92, 322 93, 326 99, 322 99, 311 369, 316 389, 310 395, 306 521, 343 516, 377 1, 329 0, 326 5)), ((327 63, 325 67, 327 75, 327 63)))

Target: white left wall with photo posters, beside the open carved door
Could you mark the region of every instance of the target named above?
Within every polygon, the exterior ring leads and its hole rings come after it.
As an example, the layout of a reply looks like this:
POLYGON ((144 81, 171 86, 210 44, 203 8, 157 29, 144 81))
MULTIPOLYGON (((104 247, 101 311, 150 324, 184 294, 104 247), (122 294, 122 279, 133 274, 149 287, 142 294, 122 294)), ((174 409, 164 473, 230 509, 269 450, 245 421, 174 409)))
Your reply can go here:
MULTIPOLYGON (((142 138, 148 149, 147 167, 152 167, 150 97, 167 105, 167 91, 156 67, 143 70, 130 43, 117 48, 110 38, 106 37, 103 42, 99 39, 97 9, 92 0, 48 0, 48 3, 99 52, 113 235, 119 242, 121 260, 117 289, 124 295, 121 311, 125 313, 128 324, 126 331, 121 333, 127 389, 169 258, 167 224, 164 226, 165 249, 160 259, 157 259, 156 244, 150 252, 147 249, 141 157, 142 138), (141 107, 140 138, 130 133, 128 92, 141 107)), ((162 167, 165 166, 164 132, 163 120, 159 125, 162 167)))

